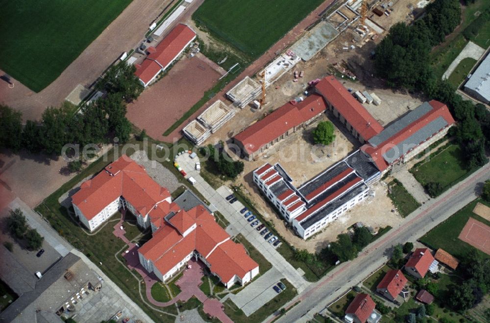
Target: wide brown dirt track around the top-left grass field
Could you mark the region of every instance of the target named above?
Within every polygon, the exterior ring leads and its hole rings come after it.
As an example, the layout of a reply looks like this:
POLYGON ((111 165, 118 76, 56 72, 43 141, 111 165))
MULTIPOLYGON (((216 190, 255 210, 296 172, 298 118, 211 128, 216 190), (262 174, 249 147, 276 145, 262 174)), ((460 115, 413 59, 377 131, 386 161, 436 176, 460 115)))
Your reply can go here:
MULTIPOLYGON (((89 87, 125 51, 144 39, 148 26, 171 0, 134 0, 68 68, 47 88, 32 92, 20 82, 8 88, 0 82, 0 101, 23 113, 23 119, 40 119, 48 106, 59 106, 73 89, 89 87)), ((0 70, 3 75, 3 71, 0 70)))

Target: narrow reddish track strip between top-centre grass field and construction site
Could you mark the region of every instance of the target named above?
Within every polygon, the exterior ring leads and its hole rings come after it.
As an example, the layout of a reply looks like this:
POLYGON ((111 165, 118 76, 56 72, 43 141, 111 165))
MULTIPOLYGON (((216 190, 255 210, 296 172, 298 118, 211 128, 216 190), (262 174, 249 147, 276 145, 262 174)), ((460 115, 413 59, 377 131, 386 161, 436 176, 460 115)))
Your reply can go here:
MULTIPOLYGON (((288 32, 282 39, 275 43, 270 49, 260 56, 255 62, 253 62, 248 68, 246 68, 240 75, 238 75, 233 81, 231 81, 227 86, 224 87, 221 92, 216 96, 206 102, 198 111, 191 115, 186 121, 184 121, 180 126, 177 127, 169 136, 161 138, 161 140, 166 142, 173 142, 182 137, 182 128, 184 128, 190 121, 195 119, 200 115, 206 108, 213 104, 216 100, 227 100, 225 93, 228 92, 232 87, 238 84, 245 76, 250 76, 258 72, 260 69, 264 68, 267 63, 272 61, 277 55, 277 52, 281 52, 288 46, 293 44, 305 31, 305 28, 315 23, 319 19, 319 14, 325 10, 329 5, 337 0, 325 0, 319 5, 312 13, 310 13, 305 19, 298 23, 294 28, 288 32)), ((188 107, 190 109, 191 106, 188 107)), ((168 128, 167 128, 168 129, 168 128)), ((165 129, 165 130, 167 130, 165 129)), ((165 130, 163 132, 165 132, 165 130)), ((162 132, 162 133, 163 133, 162 132)))

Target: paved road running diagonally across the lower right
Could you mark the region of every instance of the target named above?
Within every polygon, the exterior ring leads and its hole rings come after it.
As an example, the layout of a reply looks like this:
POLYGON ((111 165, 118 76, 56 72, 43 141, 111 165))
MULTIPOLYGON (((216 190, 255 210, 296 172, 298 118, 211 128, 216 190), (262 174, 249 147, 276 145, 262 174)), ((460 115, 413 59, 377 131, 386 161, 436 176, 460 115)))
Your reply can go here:
MULTIPOLYGON (((301 302, 281 317, 277 322, 306 322, 313 314, 322 310, 325 305, 335 300, 350 286, 361 282, 371 272, 380 267, 391 254, 395 244, 416 241, 455 211, 463 208, 476 198, 480 183, 490 179, 490 164, 485 165, 466 180, 455 185, 439 198, 430 200, 409 215, 396 230, 388 232, 381 240, 368 246, 368 249, 350 262, 336 268, 319 282, 311 284, 287 306, 297 300, 301 302), (316 304, 316 305, 313 305, 316 304)), ((273 319, 270 316, 266 321, 273 319)))

